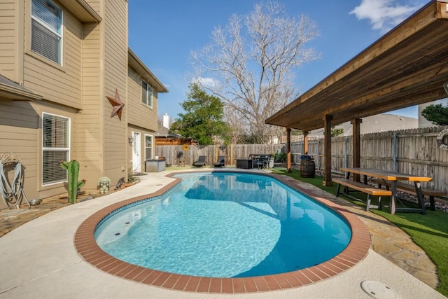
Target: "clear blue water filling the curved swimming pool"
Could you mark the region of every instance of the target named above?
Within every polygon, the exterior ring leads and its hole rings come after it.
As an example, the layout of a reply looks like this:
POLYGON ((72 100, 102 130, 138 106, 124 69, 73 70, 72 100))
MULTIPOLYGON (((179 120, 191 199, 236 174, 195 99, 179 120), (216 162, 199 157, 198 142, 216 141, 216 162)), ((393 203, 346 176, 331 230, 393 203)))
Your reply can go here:
POLYGON ((97 244, 120 260, 202 277, 253 277, 300 270, 336 256, 349 225, 306 195, 257 174, 176 175, 158 199, 113 213, 97 244))

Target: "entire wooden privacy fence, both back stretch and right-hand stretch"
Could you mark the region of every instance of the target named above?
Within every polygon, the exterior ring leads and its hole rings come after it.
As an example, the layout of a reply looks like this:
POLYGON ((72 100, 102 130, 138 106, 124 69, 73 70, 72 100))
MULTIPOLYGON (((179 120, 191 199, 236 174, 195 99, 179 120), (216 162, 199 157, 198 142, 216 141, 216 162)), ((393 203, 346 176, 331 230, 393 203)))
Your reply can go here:
MULTIPOLYGON (((360 166, 430 176, 433 181, 423 187, 448 192, 448 150, 437 144, 437 134, 447 127, 425 127, 412 130, 363 134, 360 137, 360 166)), ((293 162, 300 164, 303 141, 291 144, 293 162)), ((286 152, 285 144, 231 144, 229 146, 157 146, 155 155, 165 157, 169 165, 190 166, 200 155, 207 157, 206 165, 213 165, 218 155, 225 157, 225 165, 235 166, 237 159, 250 154, 286 152)), ((335 137, 331 143, 331 169, 342 174, 340 167, 351 167, 352 137, 335 137)), ((308 155, 314 158, 317 171, 324 167, 323 139, 308 141, 308 155)))

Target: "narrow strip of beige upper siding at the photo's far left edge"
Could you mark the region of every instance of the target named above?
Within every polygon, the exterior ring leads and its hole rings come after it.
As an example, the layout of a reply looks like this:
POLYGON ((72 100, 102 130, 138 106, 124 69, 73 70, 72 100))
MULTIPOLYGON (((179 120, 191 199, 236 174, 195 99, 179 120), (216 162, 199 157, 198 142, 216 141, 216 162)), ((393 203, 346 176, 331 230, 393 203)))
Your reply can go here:
POLYGON ((0 74, 12 81, 21 81, 18 59, 20 55, 20 7, 22 1, 2 1, 0 4, 0 74))

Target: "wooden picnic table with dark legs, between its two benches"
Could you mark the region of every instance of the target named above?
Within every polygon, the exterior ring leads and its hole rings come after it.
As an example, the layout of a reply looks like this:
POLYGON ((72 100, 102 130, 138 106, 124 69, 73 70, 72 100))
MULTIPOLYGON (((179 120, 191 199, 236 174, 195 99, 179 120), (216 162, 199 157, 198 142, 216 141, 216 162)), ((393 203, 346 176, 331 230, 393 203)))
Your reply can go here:
POLYGON ((388 170, 374 169, 374 168, 360 168, 360 167, 341 167, 340 170, 346 172, 346 179, 349 179, 350 174, 360 174, 363 176, 363 182, 367 183, 367 176, 370 178, 382 179, 383 181, 391 182, 391 214, 395 214, 395 211, 405 212, 419 212, 426 214, 425 201, 421 193, 421 182, 431 181, 432 178, 428 176, 415 176, 414 174, 402 174, 400 172, 391 172, 388 170), (397 181, 413 181, 417 200, 419 202, 419 208, 397 208, 395 207, 395 198, 397 195, 397 181))

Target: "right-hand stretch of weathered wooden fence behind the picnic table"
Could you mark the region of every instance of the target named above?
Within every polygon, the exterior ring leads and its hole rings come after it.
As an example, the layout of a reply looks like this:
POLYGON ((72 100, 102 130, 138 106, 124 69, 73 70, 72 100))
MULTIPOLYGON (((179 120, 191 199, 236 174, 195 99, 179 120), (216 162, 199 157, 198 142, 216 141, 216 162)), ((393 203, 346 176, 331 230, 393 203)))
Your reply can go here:
MULTIPOLYGON (((433 181, 422 183, 423 187, 448 192, 448 150, 442 149, 437 139, 444 129, 448 126, 363 134, 360 136, 360 167, 430 176, 433 181)), ((302 148, 303 141, 291 144, 297 164, 302 148)), ((308 141, 308 155, 314 158, 318 171, 323 170, 323 153, 323 139, 308 141)), ((331 155, 332 172, 341 174, 340 167, 351 167, 352 137, 332 138, 331 155)))

